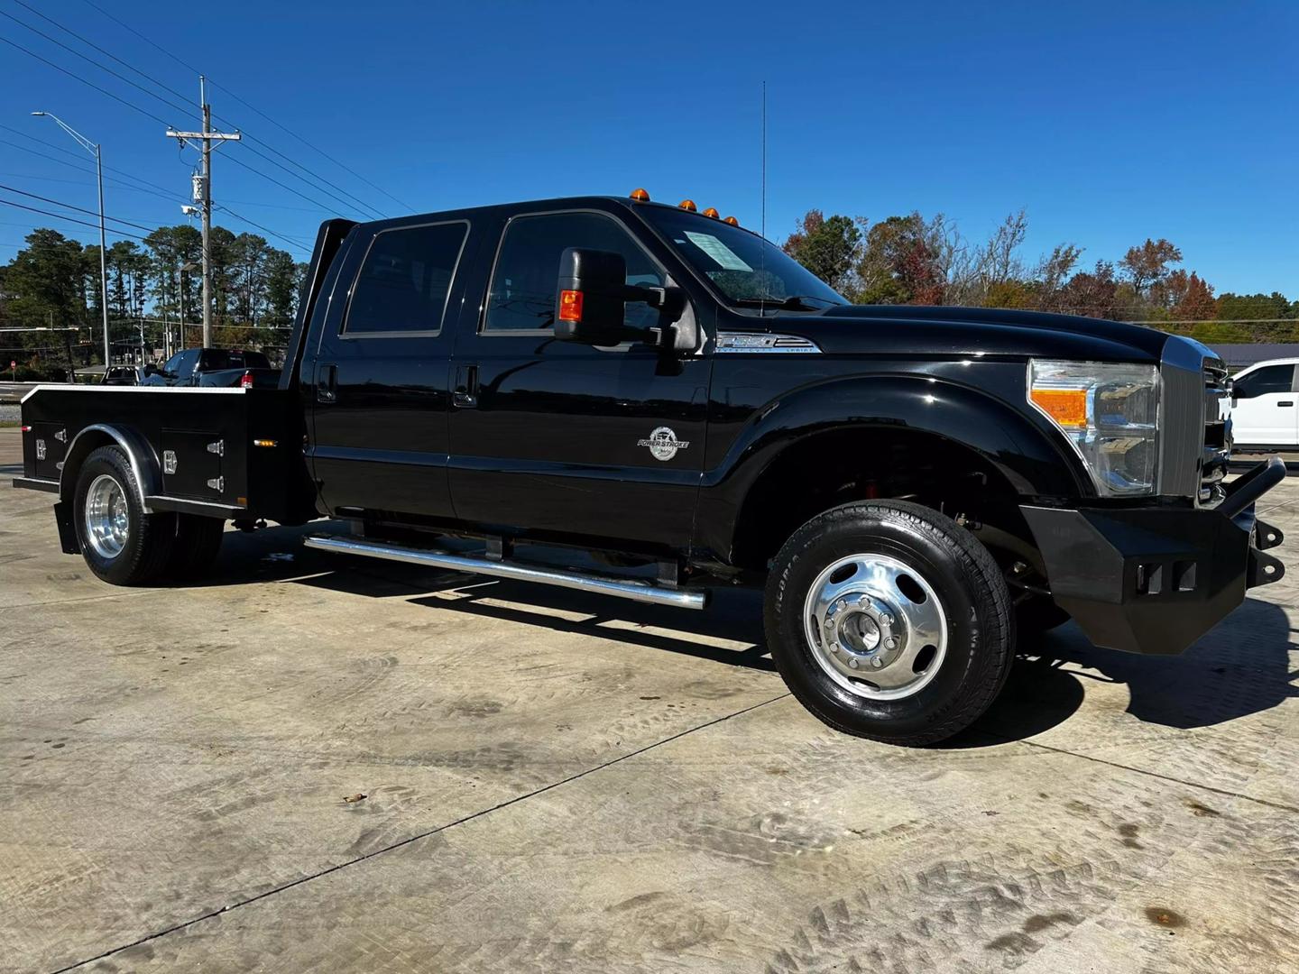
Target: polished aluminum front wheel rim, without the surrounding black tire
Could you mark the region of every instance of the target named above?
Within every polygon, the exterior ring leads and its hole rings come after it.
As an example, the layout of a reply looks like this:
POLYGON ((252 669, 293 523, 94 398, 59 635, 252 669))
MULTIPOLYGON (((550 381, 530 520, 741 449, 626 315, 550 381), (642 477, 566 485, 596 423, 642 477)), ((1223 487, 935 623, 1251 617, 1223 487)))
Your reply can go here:
POLYGON ((911 696, 947 655, 947 616, 933 586, 887 555, 829 565, 808 590, 803 619, 817 664, 861 697, 911 696))

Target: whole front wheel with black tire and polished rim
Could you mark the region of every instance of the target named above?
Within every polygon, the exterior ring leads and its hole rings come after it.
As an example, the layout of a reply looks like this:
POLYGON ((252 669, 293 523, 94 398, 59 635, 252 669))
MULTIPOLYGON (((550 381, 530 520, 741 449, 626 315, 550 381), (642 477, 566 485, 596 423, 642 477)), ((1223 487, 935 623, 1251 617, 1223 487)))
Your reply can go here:
POLYGON ((992 556, 950 518, 904 501, 846 504, 803 525, 776 556, 764 614, 794 696, 835 730, 889 744, 968 727, 1013 658, 1011 596, 992 556))

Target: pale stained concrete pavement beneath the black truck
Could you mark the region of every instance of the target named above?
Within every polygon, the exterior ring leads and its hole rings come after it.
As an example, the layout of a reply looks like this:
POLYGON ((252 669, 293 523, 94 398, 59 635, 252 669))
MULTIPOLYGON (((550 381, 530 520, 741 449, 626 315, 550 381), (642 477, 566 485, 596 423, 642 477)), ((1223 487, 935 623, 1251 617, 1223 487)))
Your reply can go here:
POLYGON ((1185 656, 1066 627, 903 751, 788 697, 752 597, 300 535, 120 590, 0 486, 0 969, 1299 971, 1289 540, 1185 656))

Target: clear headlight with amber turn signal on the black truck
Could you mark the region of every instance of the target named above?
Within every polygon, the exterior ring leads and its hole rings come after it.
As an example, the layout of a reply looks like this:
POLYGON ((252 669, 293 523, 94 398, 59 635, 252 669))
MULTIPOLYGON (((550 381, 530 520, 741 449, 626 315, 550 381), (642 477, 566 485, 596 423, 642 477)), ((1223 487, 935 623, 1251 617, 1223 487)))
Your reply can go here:
POLYGON ((1034 358, 1029 401, 1069 438, 1103 497, 1154 493, 1157 366, 1034 358))

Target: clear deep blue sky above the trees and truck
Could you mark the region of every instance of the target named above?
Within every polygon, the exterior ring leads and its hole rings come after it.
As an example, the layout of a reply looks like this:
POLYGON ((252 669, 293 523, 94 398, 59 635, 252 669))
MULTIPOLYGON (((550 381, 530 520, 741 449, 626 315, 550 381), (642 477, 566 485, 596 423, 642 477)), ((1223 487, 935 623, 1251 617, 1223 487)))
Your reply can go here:
MULTIPOLYGON (((86 0, 26 1, 197 100, 192 71, 86 0)), ((1024 206, 1030 258, 1073 242, 1087 264, 1117 260, 1167 236, 1220 292, 1299 297, 1294 3, 329 0, 303 14, 265 0, 95 1, 414 210, 644 186, 756 226, 765 79, 772 239, 812 206, 869 219, 943 212, 973 239, 1024 206)), ((16 0, 0 12, 153 87, 16 0)), ((197 123, 196 109, 156 101, 14 19, 0 17, 0 36, 171 125, 197 123)), ((158 121, 8 44, 0 78, 0 183, 95 209, 90 173, 17 148, 90 165, 13 131, 77 152, 30 117, 45 109, 103 142, 108 166, 177 197, 109 183, 109 216, 182 219, 195 153, 179 153, 158 121)), ((218 153, 218 204, 308 244, 331 216, 321 204, 347 212, 330 197, 339 190, 310 188, 255 148, 403 210, 225 90, 210 91, 214 113, 257 142, 218 153), (227 161, 236 155, 312 200, 227 161)), ((229 213, 218 222, 256 230, 229 213)), ((0 206, 0 260, 34 223, 96 232, 0 206)))

